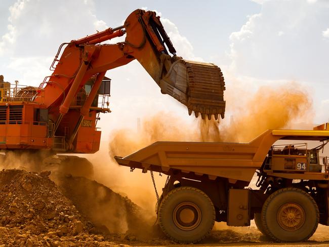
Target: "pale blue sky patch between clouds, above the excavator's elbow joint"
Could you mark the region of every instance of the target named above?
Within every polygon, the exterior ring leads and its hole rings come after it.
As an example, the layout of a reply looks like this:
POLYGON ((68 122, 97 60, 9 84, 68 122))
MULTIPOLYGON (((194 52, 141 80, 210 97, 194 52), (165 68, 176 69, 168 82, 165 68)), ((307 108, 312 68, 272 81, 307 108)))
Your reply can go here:
MULTIPOLYGON (((105 6, 108 2, 95 1, 99 6, 105 6)), ((106 23, 120 24, 118 20, 136 8, 147 7, 148 10, 158 10, 163 17, 169 18, 179 27, 182 35, 193 44, 195 56, 202 57, 204 60, 210 60, 214 52, 224 55, 229 48, 229 36, 232 31, 239 30, 248 20, 249 15, 259 13, 261 10, 261 5, 247 0, 110 2, 112 6, 120 6, 120 8, 115 11, 96 8, 97 16, 106 20, 106 23)))

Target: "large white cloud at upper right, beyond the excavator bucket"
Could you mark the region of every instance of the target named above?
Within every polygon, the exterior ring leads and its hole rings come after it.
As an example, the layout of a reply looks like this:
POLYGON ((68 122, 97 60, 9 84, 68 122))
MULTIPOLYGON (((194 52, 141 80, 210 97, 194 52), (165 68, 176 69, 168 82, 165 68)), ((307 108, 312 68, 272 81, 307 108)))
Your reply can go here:
POLYGON ((271 80, 273 85, 277 81, 302 81, 312 88, 309 93, 314 99, 315 120, 327 119, 321 100, 327 98, 323 87, 327 87, 329 78, 329 47, 323 40, 323 36, 329 37, 328 2, 261 2, 260 13, 250 16, 240 30, 231 33, 231 62, 226 69, 243 81, 251 78, 256 85, 267 85, 266 81, 271 80))

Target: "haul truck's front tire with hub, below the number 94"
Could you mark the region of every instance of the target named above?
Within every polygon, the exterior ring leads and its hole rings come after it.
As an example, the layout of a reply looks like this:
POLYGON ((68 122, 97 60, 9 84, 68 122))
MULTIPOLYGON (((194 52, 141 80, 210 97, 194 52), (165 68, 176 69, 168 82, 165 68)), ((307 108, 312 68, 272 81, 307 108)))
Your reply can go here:
POLYGON ((314 199, 298 188, 275 191, 262 209, 265 233, 278 242, 297 242, 310 238, 319 223, 314 199))

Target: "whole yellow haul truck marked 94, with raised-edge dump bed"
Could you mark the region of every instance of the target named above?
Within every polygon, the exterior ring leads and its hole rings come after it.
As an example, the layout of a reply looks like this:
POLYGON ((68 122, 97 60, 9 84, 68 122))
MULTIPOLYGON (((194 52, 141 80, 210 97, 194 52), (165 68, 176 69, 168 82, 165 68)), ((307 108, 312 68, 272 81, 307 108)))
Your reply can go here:
POLYGON ((169 175, 158 223, 178 242, 201 240, 215 221, 249 226, 252 219, 273 240, 292 242, 311 237, 319 223, 329 225, 328 158, 320 157, 328 140, 326 123, 268 130, 250 143, 156 142, 115 159, 132 171, 169 175), (278 140, 286 144, 274 145, 278 140), (308 148, 309 141, 320 143, 308 148))

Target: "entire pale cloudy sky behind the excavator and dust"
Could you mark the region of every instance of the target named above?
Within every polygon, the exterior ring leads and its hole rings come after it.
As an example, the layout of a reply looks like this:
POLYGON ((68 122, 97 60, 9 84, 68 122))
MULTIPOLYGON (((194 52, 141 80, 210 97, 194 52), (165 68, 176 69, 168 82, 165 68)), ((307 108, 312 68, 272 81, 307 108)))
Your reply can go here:
MULTIPOLYGON (((262 86, 296 81, 313 101, 312 118, 305 115, 298 121, 328 121, 326 0, 2 0, 0 73, 12 83, 17 79, 23 85, 37 86, 49 75, 61 43, 118 26, 138 8, 159 12, 178 55, 222 68, 228 120, 238 114, 234 107, 243 105, 243 96, 262 86)), ((159 110, 194 120, 183 106, 159 93, 136 61, 108 71, 107 76, 113 83, 112 113, 100 121, 105 137, 111 129, 135 127, 137 117, 159 110)))

